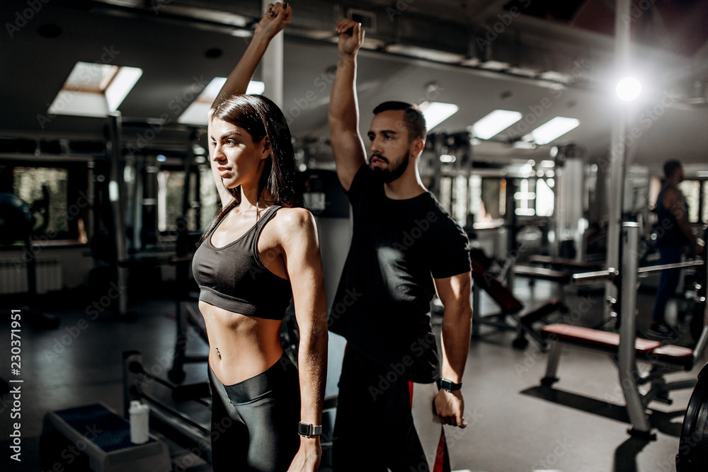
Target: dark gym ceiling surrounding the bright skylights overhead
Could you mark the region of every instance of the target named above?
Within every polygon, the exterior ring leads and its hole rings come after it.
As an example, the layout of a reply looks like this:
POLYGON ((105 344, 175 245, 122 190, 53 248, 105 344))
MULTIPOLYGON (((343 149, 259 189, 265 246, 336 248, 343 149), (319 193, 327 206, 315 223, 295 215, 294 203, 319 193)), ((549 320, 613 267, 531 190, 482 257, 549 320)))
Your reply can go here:
MULTIPOLYGON (((460 108, 434 131, 464 132, 498 108, 525 113, 530 129, 555 116, 576 117, 581 125, 552 144, 577 144, 594 160, 607 155, 612 123, 622 106, 613 91, 612 1, 291 3, 282 108, 292 118, 299 146, 321 161, 330 154, 327 74, 337 60, 332 28, 351 8, 375 22, 367 32, 369 49, 360 54, 362 131, 377 103, 419 103, 432 91, 435 100, 460 108), (391 45, 427 47, 459 59, 450 64, 444 62, 450 59, 414 58, 387 51, 391 45), (539 105, 548 103, 539 112, 539 105)), ((633 70, 645 86, 630 113, 627 132, 636 134, 631 160, 651 168, 669 157, 706 163, 708 2, 645 0, 633 8, 626 20, 634 38, 633 70)), ((103 137, 105 120, 100 118, 57 115, 47 121, 38 116, 47 117, 48 105, 76 62, 110 56, 112 64, 143 71, 120 105, 125 120, 167 117, 176 122, 183 109, 177 105, 180 99, 191 100, 190 90, 234 67, 249 40, 234 31, 252 28, 260 11, 260 1, 4 0, 0 136, 103 137)), ((527 129, 520 127, 523 122, 475 146, 475 159, 544 159, 552 144, 534 150, 508 144, 512 134, 525 134, 527 129)), ((130 127, 125 131, 125 139, 137 139, 130 127)), ((164 132, 155 142, 171 136, 164 132)))

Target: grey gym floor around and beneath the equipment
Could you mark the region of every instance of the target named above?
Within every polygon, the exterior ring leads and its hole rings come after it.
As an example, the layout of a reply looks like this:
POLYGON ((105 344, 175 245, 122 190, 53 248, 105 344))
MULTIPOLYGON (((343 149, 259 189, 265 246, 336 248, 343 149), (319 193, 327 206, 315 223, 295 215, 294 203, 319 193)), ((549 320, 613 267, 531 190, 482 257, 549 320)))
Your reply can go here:
MULTIPOLYGON (((651 280, 639 293, 639 330, 646 329, 653 306, 651 280)), ((154 288, 154 287, 153 287, 154 288)), ((554 294, 549 282, 536 282, 532 287, 517 279, 515 295, 528 309, 539 306, 554 294)), ((603 321, 601 291, 578 294, 566 288, 566 303, 571 311, 566 320, 577 318, 573 313, 586 312, 576 324, 596 326, 603 321), (581 306, 590 306, 590 310, 581 306)), ((16 306, 0 301, 3 313, 16 306)), ((138 319, 128 323, 101 313, 95 320, 86 316, 90 299, 74 294, 71 300, 47 298, 43 304, 48 312, 61 318, 57 330, 33 330, 23 326, 22 368, 22 468, 40 471, 39 437, 45 413, 89 403, 101 402, 120 413, 122 410, 122 359, 124 350, 142 351, 146 368, 152 367, 166 378, 171 362, 166 359, 175 342, 175 303, 166 291, 152 289, 149 294, 137 294, 131 299, 131 309, 138 319), (84 319, 84 321, 81 321, 84 319), (163 368, 163 367, 166 368, 163 368)), ((680 301, 670 303, 668 318, 675 320, 680 301)), ((482 314, 495 309, 486 297, 481 300, 482 314)), ((554 315, 559 316, 559 315, 554 315)), ((435 320, 434 321, 438 321, 435 320)), ((612 323, 607 326, 612 326, 612 323)), ((9 359, 9 323, 2 323, 0 352, 9 359)), ((675 471, 675 454, 683 415, 690 398, 690 389, 673 391, 672 405, 651 403, 651 422, 657 440, 646 442, 627 435, 624 398, 619 389, 617 369, 609 357, 585 350, 564 350, 559 367, 560 381, 551 391, 539 388, 544 374, 546 355, 535 345, 526 350, 514 350, 512 332, 481 328, 481 338, 474 340, 469 350, 464 375, 463 393, 466 401, 464 430, 446 427, 452 469, 458 471, 570 471, 570 472, 666 472, 675 471)), ((676 344, 687 344, 687 335, 676 344)), ((188 344, 189 355, 205 355, 207 345, 200 339, 188 344)), ((670 379, 695 379, 705 360, 697 362, 691 372, 678 372, 670 379)), ((646 365, 640 366, 646 369, 646 365)), ((155 371, 153 371, 155 372, 155 371)), ((204 364, 185 367, 185 383, 206 379, 204 364)), ((0 376, 8 379, 10 363, 0 365, 0 376)), ((154 394, 161 386, 154 386, 154 394)), ((11 402, 2 398, 0 435, 10 433, 8 409, 11 402)), ((206 423, 208 412, 201 405, 180 405, 193 418, 206 423)), ((0 442, 0 468, 18 470, 9 459, 9 441, 0 442)), ((175 470, 210 471, 196 456, 178 447, 171 447, 175 470)))

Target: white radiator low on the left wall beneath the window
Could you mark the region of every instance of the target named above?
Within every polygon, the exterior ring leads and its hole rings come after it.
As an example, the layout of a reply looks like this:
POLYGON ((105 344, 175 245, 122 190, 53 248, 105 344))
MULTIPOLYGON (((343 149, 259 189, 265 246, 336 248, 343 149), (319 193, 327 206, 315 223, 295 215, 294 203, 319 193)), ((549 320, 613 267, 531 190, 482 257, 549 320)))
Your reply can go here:
MULTIPOLYGON (((59 260, 38 260, 37 292, 61 290, 62 263, 59 260)), ((20 260, 0 260, 0 295, 28 292, 27 264, 20 260)))

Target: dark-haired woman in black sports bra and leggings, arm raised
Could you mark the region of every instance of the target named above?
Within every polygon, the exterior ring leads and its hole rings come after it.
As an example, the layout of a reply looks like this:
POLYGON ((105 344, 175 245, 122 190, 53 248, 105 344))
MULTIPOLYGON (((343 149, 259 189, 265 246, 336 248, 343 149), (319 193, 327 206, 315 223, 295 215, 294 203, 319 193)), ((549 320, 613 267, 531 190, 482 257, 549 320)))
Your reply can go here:
POLYGON ((210 345, 215 471, 314 472, 321 456, 327 323, 314 220, 297 207, 285 117, 268 98, 239 94, 291 9, 268 7, 210 110, 210 162, 226 191, 193 273, 210 345), (280 345, 291 295, 297 369, 280 345))

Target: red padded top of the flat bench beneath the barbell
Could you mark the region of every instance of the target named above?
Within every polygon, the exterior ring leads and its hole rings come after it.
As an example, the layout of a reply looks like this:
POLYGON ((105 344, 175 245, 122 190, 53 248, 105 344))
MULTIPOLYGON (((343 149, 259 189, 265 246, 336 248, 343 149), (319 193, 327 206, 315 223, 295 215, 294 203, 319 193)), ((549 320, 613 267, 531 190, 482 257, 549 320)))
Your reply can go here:
MULTIPOLYGON (((561 343, 588 347, 601 350, 609 354, 616 354, 619 349, 619 334, 607 331, 582 328, 562 323, 544 326, 542 335, 553 338, 561 343)), ((636 338, 634 343, 636 355, 651 362, 672 364, 690 370, 693 367, 693 351, 687 347, 661 345, 658 341, 636 338)))

